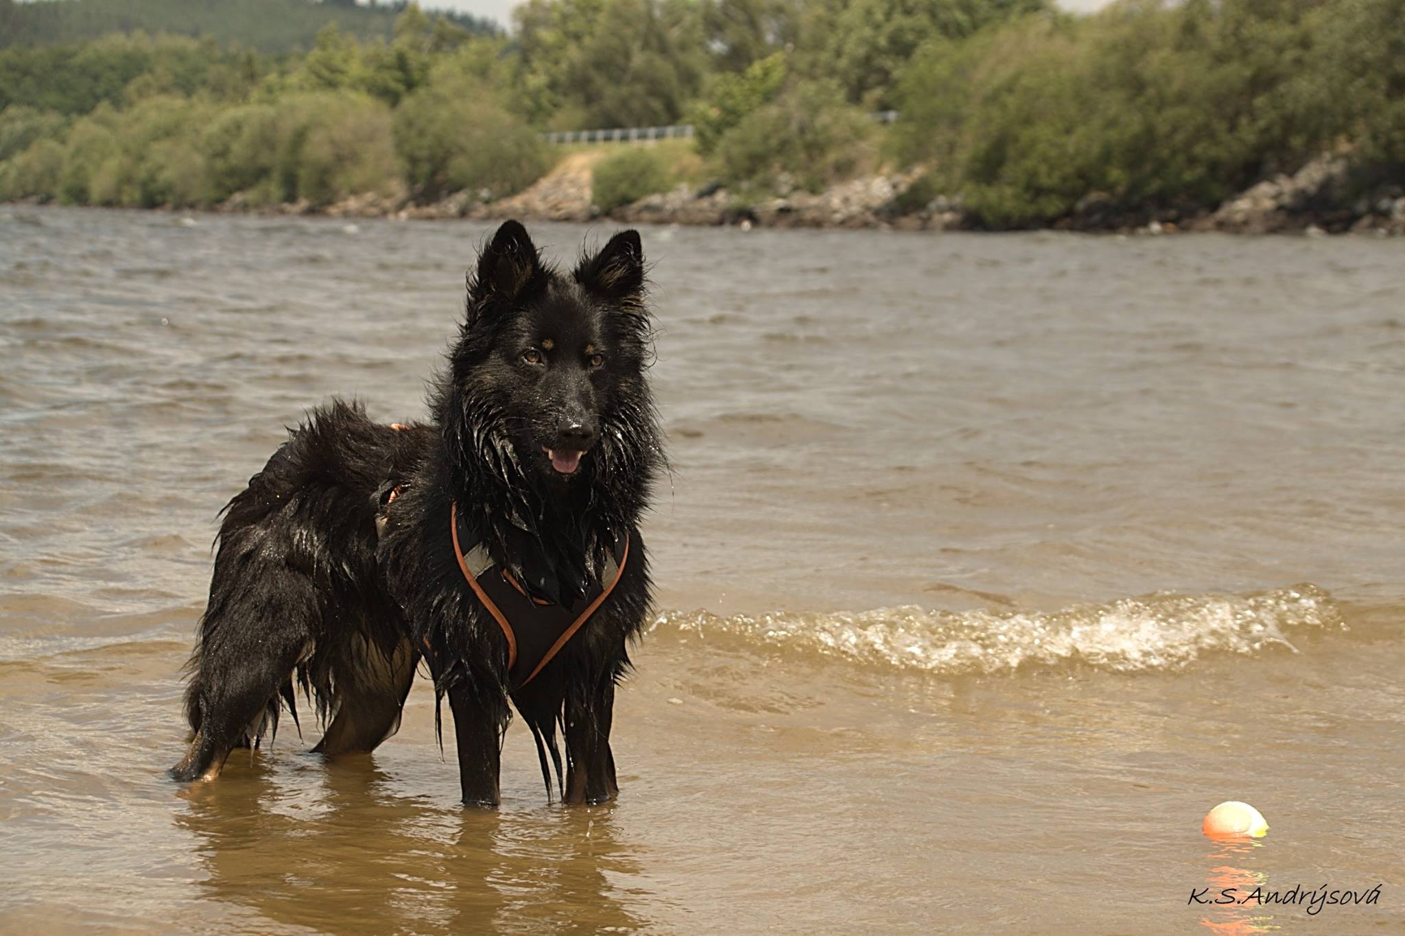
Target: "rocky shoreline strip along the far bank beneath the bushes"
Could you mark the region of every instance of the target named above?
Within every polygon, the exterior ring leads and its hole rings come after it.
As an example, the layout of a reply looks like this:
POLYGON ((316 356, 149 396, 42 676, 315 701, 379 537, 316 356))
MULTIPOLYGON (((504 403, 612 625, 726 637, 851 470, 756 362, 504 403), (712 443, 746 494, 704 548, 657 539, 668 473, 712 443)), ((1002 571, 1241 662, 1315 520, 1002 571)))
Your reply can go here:
MULTIPOLYGON (((458 192, 416 205, 405 194, 358 195, 327 208, 282 205, 275 213, 323 213, 334 218, 482 219, 587 222, 601 215, 592 203, 592 166, 600 153, 576 153, 530 188, 510 198, 482 201, 458 192)), ((764 227, 842 227, 895 230, 974 230, 979 225, 960 199, 913 195, 917 173, 867 175, 806 192, 781 184, 763 199, 740 199, 719 185, 679 185, 610 213, 627 225, 750 225, 764 227)), ((1405 236, 1405 187, 1377 185, 1367 196, 1347 195, 1352 167, 1345 156, 1322 156, 1293 175, 1264 180, 1227 199, 1213 212, 1165 212, 1154 216, 1118 213, 1099 192, 1052 225, 1062 230, 1163 234, 1184 230, 1267 233, 1374 233, 1405 236)), ((221 210, 249 210, 237 196, 221 210)))

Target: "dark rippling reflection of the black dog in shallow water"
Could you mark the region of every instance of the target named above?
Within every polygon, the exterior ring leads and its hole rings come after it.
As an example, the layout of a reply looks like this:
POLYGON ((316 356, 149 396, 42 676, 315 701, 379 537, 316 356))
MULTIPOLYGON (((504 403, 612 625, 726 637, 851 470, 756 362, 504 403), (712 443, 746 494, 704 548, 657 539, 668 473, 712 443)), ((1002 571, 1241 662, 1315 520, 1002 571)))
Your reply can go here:
MULTIPOLYGON (((236 756, 239 756, 236 754, 236 756)), ((259 762, 185 791, 209 897, 336 932, 521 932, 643 922, 614 881, 639 873, 611 807, 462 810, 403 796, 371 756, 259 762)))

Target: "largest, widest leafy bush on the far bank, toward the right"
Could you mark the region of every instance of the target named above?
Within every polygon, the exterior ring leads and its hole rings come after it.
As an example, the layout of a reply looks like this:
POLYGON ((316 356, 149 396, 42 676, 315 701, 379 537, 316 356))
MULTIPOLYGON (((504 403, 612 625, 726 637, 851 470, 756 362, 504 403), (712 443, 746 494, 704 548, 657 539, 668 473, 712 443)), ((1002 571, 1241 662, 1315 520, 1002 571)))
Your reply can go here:
POLYGON ((1326 143, 1290 97, 1308 44, 1294 0, 1130 3, 932 42, 902 76, 896 152, 992 227, 1066 216, 1090 192, 1118 210, 1213 208, 1326 143))

